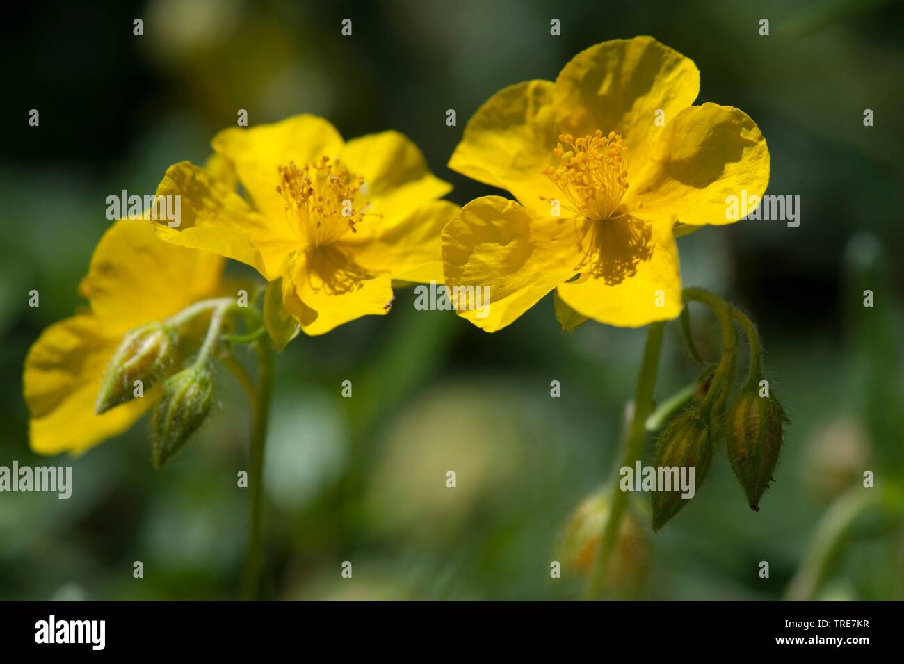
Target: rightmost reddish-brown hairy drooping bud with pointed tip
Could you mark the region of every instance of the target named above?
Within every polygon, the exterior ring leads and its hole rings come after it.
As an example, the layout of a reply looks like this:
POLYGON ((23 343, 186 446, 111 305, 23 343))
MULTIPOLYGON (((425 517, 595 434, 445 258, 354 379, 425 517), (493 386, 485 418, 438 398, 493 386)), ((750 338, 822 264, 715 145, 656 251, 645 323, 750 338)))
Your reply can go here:
POLYGON ((731 405, 726 427, 729 459, 751 510, 759 511, 759 500, 772 482, 782 424, 787 421, 777 399, 760 397, 756 389, 744 390, 731 405))

